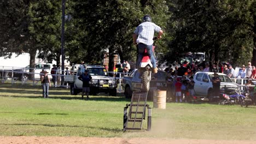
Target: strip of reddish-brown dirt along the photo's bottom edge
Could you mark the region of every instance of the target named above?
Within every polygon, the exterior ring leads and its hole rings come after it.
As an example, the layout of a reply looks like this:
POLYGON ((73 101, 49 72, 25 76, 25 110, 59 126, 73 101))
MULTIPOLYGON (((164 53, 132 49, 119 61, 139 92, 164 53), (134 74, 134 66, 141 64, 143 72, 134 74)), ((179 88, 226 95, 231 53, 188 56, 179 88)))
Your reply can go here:
POLYGON ((254 144, 256 141, 229 141, 229 140, 167 140, 167 139, 148 139, 148 138, 100 138, 100 137, 59 137, 59 136, 0 136, 0 143, 104 143, 104 144, 135 144, 135 143, 147 143, 147 144, 161 144, 161 143, 184 143, 184 144, 254 144))

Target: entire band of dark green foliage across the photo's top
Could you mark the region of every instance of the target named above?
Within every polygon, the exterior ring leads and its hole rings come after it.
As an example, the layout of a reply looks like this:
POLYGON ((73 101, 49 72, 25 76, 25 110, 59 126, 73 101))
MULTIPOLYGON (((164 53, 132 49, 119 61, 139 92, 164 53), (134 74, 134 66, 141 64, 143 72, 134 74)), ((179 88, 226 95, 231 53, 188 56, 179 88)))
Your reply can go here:
MULTIPOLYGON (((255 47, 255 3, 67 0, 66 15, 72 19, 65 23, 66 56, 71 63, 100 63, 109 50, 110 57, 118 53, 121 61, 135 61, 131 34, 148 14, 164 30, 162 40, 156 41, 156 52, 164 53, 162 60, 177 61, 181 52, 206 52, 207 61, 244 64, 255 47)), ((1 56, 29 52, 34 63, 39 50, 40 58, 60 61, 60 1, 0 0, 0 16, 1 56)))

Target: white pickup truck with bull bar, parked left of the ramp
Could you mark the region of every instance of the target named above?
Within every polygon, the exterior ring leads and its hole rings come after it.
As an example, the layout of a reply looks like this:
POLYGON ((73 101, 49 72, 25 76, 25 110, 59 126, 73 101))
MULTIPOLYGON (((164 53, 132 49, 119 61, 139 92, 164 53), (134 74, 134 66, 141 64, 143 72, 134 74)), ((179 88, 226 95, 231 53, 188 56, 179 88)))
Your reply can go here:
POLYGON ((65 82, 69 82, 70 91, 72 95, 77 95, 82 92, 83 82, 78 79, 84 71, 88 70, 92 77, 90 81, 90 94, 96 95, 97 93, 104 92, 109 95, 117 96, 117 79, 110 77, 106 68, 99 65, 80 65, 75 75, 66 75, 65 82))

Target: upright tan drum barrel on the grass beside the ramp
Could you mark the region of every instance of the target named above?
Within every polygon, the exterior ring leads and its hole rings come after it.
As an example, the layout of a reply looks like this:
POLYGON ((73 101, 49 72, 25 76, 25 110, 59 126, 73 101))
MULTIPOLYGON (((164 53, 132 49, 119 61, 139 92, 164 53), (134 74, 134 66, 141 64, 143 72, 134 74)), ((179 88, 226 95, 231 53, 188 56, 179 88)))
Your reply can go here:
POLYGON ((153 107, 166 109, 166 91, 154 91, 153 107))

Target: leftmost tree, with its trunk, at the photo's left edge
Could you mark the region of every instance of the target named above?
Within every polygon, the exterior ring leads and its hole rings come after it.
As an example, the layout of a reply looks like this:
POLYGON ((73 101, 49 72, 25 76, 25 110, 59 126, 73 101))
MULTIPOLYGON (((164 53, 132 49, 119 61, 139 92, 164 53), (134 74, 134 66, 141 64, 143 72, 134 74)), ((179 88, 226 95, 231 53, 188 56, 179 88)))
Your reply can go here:
MULTIPOLYGON (((4 1, 0 0, 0 53, 2 56, 9 55, 10 52, 30 53, 30 67, 34 67, 36 57, 36 41, 28 31, 28 6, 32 1, 4 1)), ((30 69, 30 72, 33 72, 30 69)), ((31 75, 33 76, 33 75, 31 75)))

